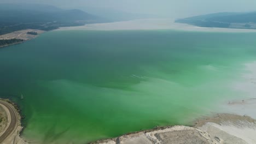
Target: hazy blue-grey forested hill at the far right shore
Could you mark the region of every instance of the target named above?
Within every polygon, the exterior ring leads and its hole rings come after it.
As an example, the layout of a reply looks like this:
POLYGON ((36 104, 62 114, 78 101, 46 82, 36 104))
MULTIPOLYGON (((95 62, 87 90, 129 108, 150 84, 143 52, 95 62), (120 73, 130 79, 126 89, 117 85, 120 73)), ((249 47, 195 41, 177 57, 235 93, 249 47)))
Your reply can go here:
POLYGON ((178 19, 176 22, 188 23, 199 27, 256 29, 256 12, 216 13, 178 19))

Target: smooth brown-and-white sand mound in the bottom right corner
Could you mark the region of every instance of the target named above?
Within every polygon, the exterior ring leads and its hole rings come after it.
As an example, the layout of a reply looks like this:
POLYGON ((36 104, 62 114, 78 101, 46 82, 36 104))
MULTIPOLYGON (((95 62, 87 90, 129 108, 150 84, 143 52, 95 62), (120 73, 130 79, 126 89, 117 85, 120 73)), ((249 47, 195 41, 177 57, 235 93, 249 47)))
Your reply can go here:
POLYGON ((224 143, 256 143, 256 120, 248 116, 217 115, 199 121, 195 127, 224 143))

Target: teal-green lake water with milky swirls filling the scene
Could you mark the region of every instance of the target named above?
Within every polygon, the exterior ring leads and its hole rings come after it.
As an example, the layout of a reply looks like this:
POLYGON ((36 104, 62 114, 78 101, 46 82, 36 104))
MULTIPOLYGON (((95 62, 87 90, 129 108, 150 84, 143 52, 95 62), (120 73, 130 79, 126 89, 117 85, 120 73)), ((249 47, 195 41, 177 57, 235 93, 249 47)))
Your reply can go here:
POLYGON ((254 61, 256 33, 53 31, 0 49, 0 94, 41 143, 85 143, 157 125, 190 125, 254 61), (20 95, 24 99, 20 99, 20 95))

